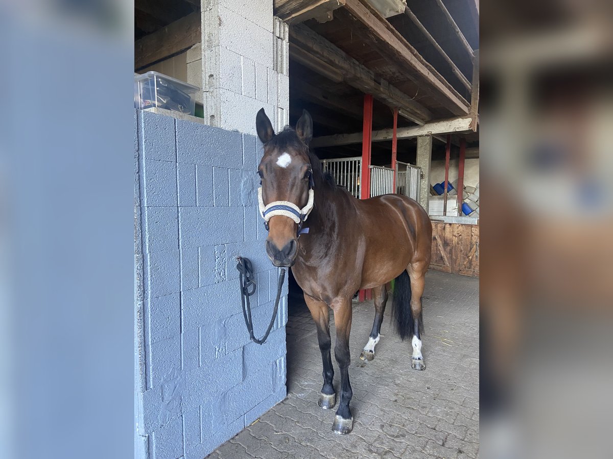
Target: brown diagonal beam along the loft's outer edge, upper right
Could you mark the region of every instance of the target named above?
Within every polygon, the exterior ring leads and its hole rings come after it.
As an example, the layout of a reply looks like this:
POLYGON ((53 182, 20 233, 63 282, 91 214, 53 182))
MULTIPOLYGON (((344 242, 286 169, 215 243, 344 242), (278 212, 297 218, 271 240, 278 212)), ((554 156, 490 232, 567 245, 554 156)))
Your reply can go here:
MULTIPOLYGON (((455 91, 447 80, 438 73, 432 65, 417 53, 392 24, 382 17, 365 0, 346 0, 345 8, 359 20, 373 37, 385 45, 390 58, 403 64, 408 72, 407 77, 417 77, 417 82, 425 84, 439 102, 455 115, 468 113, 468 102, 455 91), (414 76, 411 76, 414 73, 414 76)), ((471 54, 472 55, 472 54, 471 54)))

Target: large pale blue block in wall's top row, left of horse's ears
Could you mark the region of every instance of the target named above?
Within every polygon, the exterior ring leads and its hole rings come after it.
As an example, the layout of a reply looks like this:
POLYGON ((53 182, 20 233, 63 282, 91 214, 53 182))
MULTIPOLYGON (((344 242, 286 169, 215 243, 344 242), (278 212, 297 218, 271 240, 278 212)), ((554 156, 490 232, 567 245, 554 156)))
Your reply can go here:
MULTIPOLYGON (((242 116, 245 108, 240 111, 242 116)), ((242 139, 238 132, 177 120, 177 161, 180 163, 240 169, 243 160, 241 147, 242 139)))

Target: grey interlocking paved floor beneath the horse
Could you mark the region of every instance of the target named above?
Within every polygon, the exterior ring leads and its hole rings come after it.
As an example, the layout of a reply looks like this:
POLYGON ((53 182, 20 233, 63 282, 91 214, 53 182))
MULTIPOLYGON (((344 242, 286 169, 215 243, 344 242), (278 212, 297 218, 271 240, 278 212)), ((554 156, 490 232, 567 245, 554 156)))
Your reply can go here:
MULTIPOLYGON (((375 360, 362 362, 375 315, 354 306, 351 326, 354 428, 332 432, 334 410, 317 405, 322 364, 306 305, 287 323, 287 398, 221 445, 211 458, 467 458, 479 455, 479 280, 430 271, 424 293, 425 371, 411 370, 411 344, 392 331, 389 308, 375 360)), ((334 349, 333 315, 330 332, 334 349)), ((335 384, 339 387, 334 356, 335 384)))

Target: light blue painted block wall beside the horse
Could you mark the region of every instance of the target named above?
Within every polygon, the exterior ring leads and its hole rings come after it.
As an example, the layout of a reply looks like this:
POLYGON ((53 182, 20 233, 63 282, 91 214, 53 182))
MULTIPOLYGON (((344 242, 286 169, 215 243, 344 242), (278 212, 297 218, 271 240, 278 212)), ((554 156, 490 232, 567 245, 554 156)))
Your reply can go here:
POLYGON ((286 397, 287 282, 259 346, 235 268, 253 262, 262 335, 277 271, 257 212, 261 143, 147 111, 134 122, 136 455, 202 459, 286 397))

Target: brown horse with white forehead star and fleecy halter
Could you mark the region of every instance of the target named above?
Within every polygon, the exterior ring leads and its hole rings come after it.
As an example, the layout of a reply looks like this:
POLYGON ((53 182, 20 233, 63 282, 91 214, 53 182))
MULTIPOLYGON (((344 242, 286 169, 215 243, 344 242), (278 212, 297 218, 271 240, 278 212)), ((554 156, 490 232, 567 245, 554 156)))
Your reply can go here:
POLYGON ((313 121, 306 110, 295 130, 286 127, 275 135, 262 108, 256 128, 264 143, 257 172, 262 179, 260 210, 268 228, 266 251, 275 266, 292 267, 317 326, 324 364, 322 408, 336 403, 328 310, 332 308, 337 329, 334 354, 341 372, 340 403, 332 430, 349 433, 353 426, 348 371, 351 299, 358 289, 373 289, 375 323, 360 356, 372 360, 387 302, 386 283, 395 278, 396 326, 403 340, 412 338, 411 367, 424 370, 421 297, 430 264, 432 223, 424 209, 406 196, 357 200, 335 185, 332 177, 324 176, 308 148, 313 121), (307 234, 303 226, 308 226, 307 234))

